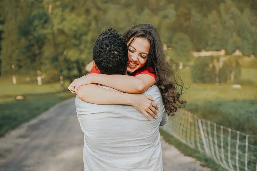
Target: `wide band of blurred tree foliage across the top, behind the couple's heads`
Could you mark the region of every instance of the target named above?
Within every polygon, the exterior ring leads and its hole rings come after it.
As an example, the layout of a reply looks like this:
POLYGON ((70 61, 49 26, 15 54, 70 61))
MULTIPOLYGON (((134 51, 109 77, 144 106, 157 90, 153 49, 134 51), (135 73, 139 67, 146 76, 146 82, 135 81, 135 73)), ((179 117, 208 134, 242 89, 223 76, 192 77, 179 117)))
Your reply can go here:
POLYGON ((0 8, 2 75, 11 74, 15 64, 19 73, 35 75, 40 69, 46 82, 61 75, 72 80, 85 74, 103 30, 123 33, 139 23, 157 28, 162 43, 174 49, 170 57, 176 62, 188 63, 190 51, 203 49, 257 53, 253 1, 2 0, 0 8))

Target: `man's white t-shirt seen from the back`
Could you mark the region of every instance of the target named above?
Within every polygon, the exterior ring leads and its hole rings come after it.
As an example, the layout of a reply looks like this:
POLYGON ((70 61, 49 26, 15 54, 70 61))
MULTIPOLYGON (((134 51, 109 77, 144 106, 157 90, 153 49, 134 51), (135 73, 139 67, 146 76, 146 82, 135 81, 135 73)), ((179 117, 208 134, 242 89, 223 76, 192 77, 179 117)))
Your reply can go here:
POLYGON ((158 105, 157 119, 149 115, 148 121, 129 105, 97 105, 76 97, 77 116, 84 133, 85 171, 163 170, 159 125, 167 122, 167 113, 157 86, 143 94, 151 95, 158 105))

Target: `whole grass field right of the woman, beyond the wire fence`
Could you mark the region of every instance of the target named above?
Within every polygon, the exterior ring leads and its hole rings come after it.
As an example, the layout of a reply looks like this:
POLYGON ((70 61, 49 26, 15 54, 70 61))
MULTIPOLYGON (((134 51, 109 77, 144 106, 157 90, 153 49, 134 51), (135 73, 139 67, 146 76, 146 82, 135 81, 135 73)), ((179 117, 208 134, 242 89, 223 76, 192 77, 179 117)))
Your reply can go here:
POLYGON ((242 68, 241 78, 250 84, 241 89, 230 84, 195 84, 191 82, 190 69, 181 70, 184 85, 182 99, 186 110, 200 118, 230 127, 246 134, 257 134, 257 69, 242 68), (252 82, 254 84, 252 84, 252 82))

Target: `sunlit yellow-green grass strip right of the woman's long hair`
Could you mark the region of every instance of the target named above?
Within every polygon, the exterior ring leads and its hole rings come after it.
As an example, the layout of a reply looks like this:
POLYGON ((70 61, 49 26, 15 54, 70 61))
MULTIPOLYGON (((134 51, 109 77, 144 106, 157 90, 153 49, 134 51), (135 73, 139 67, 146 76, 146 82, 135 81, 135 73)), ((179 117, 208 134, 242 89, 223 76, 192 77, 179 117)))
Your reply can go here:
POLYGON ((204 101, 241 101, 257 100, 257 69, 242 68, 242 79, 251 79, 256 84, 241 85, 240 89, 232 88, 234 83, 226 84, 196 84, 191 81, 190 69, 180 70, 184 86, 181 96, 188 103, 204 101))

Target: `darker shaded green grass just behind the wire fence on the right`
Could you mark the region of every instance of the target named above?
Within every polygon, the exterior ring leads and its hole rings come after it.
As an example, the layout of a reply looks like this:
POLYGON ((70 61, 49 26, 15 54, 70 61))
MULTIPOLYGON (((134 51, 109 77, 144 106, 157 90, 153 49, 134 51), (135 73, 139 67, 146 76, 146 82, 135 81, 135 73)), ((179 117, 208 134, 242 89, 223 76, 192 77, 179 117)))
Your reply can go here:
POLYGON ((257 100, 189 103, 185 109, 224 127, 257 135, 257 100))

